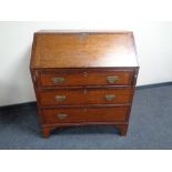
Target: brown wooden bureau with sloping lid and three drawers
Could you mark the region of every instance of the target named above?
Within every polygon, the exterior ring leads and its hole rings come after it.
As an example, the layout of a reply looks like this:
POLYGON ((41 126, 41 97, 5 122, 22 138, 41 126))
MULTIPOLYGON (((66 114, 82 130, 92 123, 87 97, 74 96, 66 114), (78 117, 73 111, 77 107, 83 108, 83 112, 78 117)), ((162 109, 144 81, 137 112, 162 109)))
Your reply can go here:
POLYGON ((127 134, 139 71, 132 32, 36 32, 30 71, 44 138, 82 124, 127 134))

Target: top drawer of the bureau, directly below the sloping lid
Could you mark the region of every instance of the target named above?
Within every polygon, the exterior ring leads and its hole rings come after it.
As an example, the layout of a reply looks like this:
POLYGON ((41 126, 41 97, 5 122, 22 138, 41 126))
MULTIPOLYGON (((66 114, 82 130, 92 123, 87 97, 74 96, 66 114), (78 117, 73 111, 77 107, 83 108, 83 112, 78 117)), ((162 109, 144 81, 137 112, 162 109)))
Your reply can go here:
POLYGON ((133 71, 69 71, 40 73, 40 87, 130 85, 133 71))

